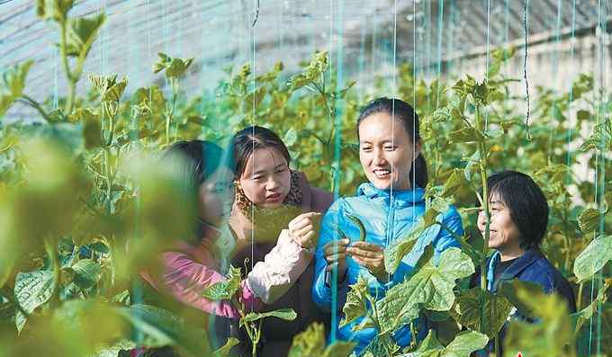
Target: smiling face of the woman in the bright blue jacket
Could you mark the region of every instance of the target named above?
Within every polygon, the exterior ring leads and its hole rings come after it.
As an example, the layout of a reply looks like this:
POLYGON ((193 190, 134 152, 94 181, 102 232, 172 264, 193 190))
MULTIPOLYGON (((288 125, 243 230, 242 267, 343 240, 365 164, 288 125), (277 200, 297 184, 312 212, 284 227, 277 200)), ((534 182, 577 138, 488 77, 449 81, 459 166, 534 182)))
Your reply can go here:
POLYGON ((400 120, 377 112, 359 123, 359 161, 365 176, 381 190, 410 189, 410 167, 419 156, 420 143, 413 144, 400 120))

